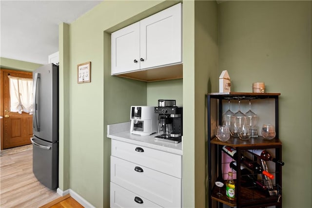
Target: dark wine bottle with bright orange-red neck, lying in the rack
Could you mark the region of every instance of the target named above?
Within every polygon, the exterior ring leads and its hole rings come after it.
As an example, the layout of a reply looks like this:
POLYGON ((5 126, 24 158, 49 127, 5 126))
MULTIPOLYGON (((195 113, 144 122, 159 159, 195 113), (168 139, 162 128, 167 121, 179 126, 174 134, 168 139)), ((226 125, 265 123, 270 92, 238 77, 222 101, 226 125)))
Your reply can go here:
MULTIPOLYGON (((237 151, 233 147, 225 145, 225 146, 222 147, 222 150, 224 152, 226 152, 228 155, 230 155, 234 160, 237 161, 237 158, 238 158, 237 151)), ((249 159, 246 156, 241 155, 239 157, 239 161, 241 163, 243 163, 250 170, 253 170, 254 173, 264 174, 264 175, 268 176, 270 179, 274 178, 274 175, 272 175, 271 173, 263 170, 263 168, 257 162, 252 161, 251 159, 249 159)))

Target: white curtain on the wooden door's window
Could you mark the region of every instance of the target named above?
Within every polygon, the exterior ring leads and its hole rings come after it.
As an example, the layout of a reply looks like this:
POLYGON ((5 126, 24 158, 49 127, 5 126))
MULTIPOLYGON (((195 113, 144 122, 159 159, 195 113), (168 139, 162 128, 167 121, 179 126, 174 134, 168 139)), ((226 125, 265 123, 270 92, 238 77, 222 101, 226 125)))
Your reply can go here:
POLYGON ((33 79, 8 77, 10 83, 10 111, 33 114, 33 79))

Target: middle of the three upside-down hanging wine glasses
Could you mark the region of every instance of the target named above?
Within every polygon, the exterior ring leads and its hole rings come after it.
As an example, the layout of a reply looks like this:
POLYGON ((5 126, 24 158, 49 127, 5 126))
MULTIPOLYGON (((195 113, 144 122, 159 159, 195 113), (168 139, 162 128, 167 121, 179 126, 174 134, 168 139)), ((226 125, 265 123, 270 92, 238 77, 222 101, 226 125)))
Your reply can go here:
POLYGON ((238 137, 238 133, 241 131, 245 124, 247 116, 240 111, 240 100, 238 98, 238 111, 231 116, 230 133, 234 137, 238 137))

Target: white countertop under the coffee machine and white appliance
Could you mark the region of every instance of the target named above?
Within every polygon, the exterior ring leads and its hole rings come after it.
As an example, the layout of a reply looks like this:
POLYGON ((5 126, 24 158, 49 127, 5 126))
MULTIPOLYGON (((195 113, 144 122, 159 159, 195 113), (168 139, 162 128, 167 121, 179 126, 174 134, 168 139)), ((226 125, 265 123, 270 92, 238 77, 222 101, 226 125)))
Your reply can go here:
POLYGON ((183 155, 182 142, 174 144, 170 142, 158 141, 154 139, 155 135, 156 134, 141 136, 130 133, 130 122, 107 125, 108 138, 183 155))

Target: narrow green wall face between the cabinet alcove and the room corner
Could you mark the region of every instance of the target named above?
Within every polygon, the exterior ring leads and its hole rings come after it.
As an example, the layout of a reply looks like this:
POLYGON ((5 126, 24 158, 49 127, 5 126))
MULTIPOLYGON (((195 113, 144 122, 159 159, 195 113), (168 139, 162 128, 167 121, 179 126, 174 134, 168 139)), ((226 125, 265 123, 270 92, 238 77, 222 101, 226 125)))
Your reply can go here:
MULTIPOLYGON (((218 92, 217 4, 195 1, 195 208, 208 199, 205 94, 218 92)), ((208 205, 207 205, 208 206, 208 205)))

